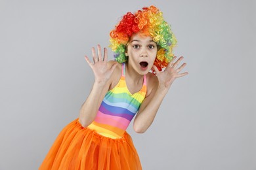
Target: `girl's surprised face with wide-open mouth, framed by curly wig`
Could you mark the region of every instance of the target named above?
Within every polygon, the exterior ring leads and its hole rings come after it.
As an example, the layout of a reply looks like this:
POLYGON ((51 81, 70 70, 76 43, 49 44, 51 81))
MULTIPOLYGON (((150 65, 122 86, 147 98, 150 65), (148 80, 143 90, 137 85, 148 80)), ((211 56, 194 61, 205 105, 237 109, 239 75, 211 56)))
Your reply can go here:
POLYGON ((154 64, 157 51, 157 44, 152 37, 141 37, 136 33, 127 45, 125 54, 128 55, 128 65, 140 75, 146 75, 154 64))

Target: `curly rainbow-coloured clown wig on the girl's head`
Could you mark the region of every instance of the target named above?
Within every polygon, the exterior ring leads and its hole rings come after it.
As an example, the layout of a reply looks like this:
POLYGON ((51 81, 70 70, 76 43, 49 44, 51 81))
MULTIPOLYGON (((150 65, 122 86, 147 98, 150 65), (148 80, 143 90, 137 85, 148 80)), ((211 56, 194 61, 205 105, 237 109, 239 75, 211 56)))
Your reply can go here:
POLYGON ((114 51, 114 58, 117 62, 127 61, 125 49, 134 33, 150 36, 156 42, 158 53, 154 65, 160 71, 173 59, 173 47, 177 40, 169 24, 163 20, 162 12, 159 9, 151 6, 144 7, 135 14, 127 12, 115 29, 110 31, 110 47, 114 51))

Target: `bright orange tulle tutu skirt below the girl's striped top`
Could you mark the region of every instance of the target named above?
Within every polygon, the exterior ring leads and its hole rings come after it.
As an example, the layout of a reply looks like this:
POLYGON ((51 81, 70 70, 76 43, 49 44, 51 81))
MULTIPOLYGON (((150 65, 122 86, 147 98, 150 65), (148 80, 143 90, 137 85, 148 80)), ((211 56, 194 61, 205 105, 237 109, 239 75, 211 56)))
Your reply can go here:
POLYGON ((130 135, 104 137, 81 126, 78 119, 64 127, 39 167, 42 169, 142 169, 130 135))

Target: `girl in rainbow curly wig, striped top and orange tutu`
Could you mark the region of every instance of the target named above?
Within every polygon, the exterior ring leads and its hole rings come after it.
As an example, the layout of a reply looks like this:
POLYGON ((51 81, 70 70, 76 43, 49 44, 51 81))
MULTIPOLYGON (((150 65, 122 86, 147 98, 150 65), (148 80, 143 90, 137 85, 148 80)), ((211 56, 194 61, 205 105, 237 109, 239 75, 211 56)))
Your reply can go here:
POLYGON ((178 67, 182 57, 175 61, 172 53, 177 41, 154 6, 125 14, 110 37, 116 61, 107 61, 100 45, 92 49, 93 61, 85 56, 95 83, 40 169, 142 169, 125 130, 135 114, 137 133, 150 127, 173 81, 188 74, 180 73, 186 63, 178 67))

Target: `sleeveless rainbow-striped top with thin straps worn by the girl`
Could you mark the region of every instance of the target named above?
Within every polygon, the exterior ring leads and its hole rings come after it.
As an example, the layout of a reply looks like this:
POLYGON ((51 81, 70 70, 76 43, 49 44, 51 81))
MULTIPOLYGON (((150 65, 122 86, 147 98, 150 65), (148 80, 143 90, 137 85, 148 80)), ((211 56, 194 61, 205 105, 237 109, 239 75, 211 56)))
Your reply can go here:
POLYGON ((105 137, 121 138, 138 112, 145 95, 146 75, 140 91, 132 94, 126 86, 125 63, 123 63, 119 82, 106 93, 95 120, 88 126, 89 129, 94 129, 105 137))

